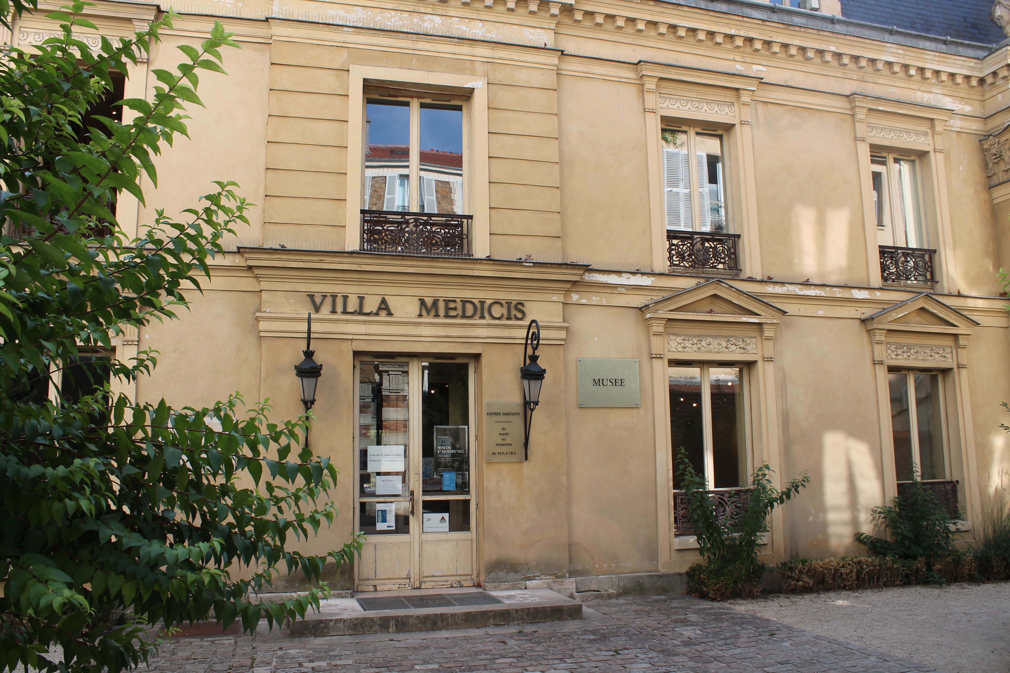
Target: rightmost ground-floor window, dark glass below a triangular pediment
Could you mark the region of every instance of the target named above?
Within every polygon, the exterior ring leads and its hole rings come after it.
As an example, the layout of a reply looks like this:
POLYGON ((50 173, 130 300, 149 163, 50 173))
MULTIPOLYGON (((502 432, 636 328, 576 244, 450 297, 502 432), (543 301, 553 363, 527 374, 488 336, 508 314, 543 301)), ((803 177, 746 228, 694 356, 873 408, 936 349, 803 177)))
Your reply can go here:
POLYGON ((911 481, 913 469, 922 479, 946 478, 941 376, 932 371, 892 370, 891 433, 898 481, 911 481))

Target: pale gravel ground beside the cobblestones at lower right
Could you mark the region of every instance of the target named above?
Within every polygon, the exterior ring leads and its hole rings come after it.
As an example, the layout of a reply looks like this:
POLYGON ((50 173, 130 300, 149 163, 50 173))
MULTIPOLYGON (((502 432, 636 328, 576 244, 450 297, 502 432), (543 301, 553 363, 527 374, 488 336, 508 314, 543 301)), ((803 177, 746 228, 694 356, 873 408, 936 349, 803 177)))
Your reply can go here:
POLYGON ((780 593, 723 604, 950 673, 1010 673, 1010 582, 780 593))

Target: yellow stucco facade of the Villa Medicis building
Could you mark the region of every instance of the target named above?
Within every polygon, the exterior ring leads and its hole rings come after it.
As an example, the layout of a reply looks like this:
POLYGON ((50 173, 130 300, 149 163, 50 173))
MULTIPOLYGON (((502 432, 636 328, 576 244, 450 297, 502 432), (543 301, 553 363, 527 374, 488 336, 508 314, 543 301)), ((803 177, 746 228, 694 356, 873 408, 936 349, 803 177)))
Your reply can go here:
POLYGON ((727 516, 756 465, 809 472, 769 563, 865 553, 913 465, 972 539, 1010 483, 1010 47, 805 2, 176 5, 125 96, 214 20, 242 48, 117 217, 215 179, 258 207, 190 313, 117 342, 161 352, 130 394, 292 418, 311 314, 341 481, 307 548, 367 534, 343 588, 675 587, 682 446, 727 516))

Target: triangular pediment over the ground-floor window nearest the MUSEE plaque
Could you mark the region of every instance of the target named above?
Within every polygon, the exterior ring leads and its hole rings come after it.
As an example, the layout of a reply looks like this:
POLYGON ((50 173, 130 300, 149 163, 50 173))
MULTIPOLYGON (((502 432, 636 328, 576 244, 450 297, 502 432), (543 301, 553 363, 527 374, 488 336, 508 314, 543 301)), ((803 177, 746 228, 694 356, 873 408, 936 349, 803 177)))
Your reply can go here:
POLYGON ((641 307, 641 311, 646 318, 663 315, 676 315, 680 318, 711 316, 745 322, 764 322, 762 318, 777 320, 786 315, 785 311, 774 304, 721 279, 709 281, 649 302, 641 307))

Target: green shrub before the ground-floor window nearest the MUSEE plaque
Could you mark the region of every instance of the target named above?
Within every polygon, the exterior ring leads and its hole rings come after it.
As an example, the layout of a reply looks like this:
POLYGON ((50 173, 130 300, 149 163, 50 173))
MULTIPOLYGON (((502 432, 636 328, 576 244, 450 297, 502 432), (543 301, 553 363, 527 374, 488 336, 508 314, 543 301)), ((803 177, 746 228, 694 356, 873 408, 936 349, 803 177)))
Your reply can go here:
POLYGON ((804 472, 782 490, 772 485, 767 463, 754 470, 746 510, 737 521, 720 520, 709 496, 708 483, 691 467, 681 447, 677 458, 678 480, 684 487, 688 517, 698 538, 698 550, 705 564, 693 564, 687 571, 688 593, 699 598, 723 600, 732 595, 755 595, 768 566, 758 560, 762 535, 768 531, 768 515, 789 501, 809 482, 804 472))

